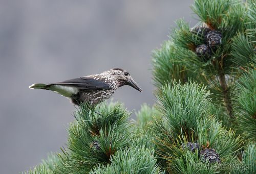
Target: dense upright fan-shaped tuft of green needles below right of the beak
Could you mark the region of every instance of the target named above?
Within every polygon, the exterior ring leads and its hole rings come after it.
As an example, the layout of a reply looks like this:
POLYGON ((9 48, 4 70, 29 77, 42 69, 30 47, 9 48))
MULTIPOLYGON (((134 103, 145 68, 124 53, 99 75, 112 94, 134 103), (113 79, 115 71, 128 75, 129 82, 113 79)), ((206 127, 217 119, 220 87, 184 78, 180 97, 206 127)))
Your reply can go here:
POLYGON ((205 87, 191 82, 183 86, 173 82, 161 88, 161 91, 156 94, 159 101, 158 109, 164 113, 174 135, 180 135, 183 132, 190 140, 197 119, 207 116, 205 113, 210 108, 208 95, 209 92, 205 91, 205 87))

